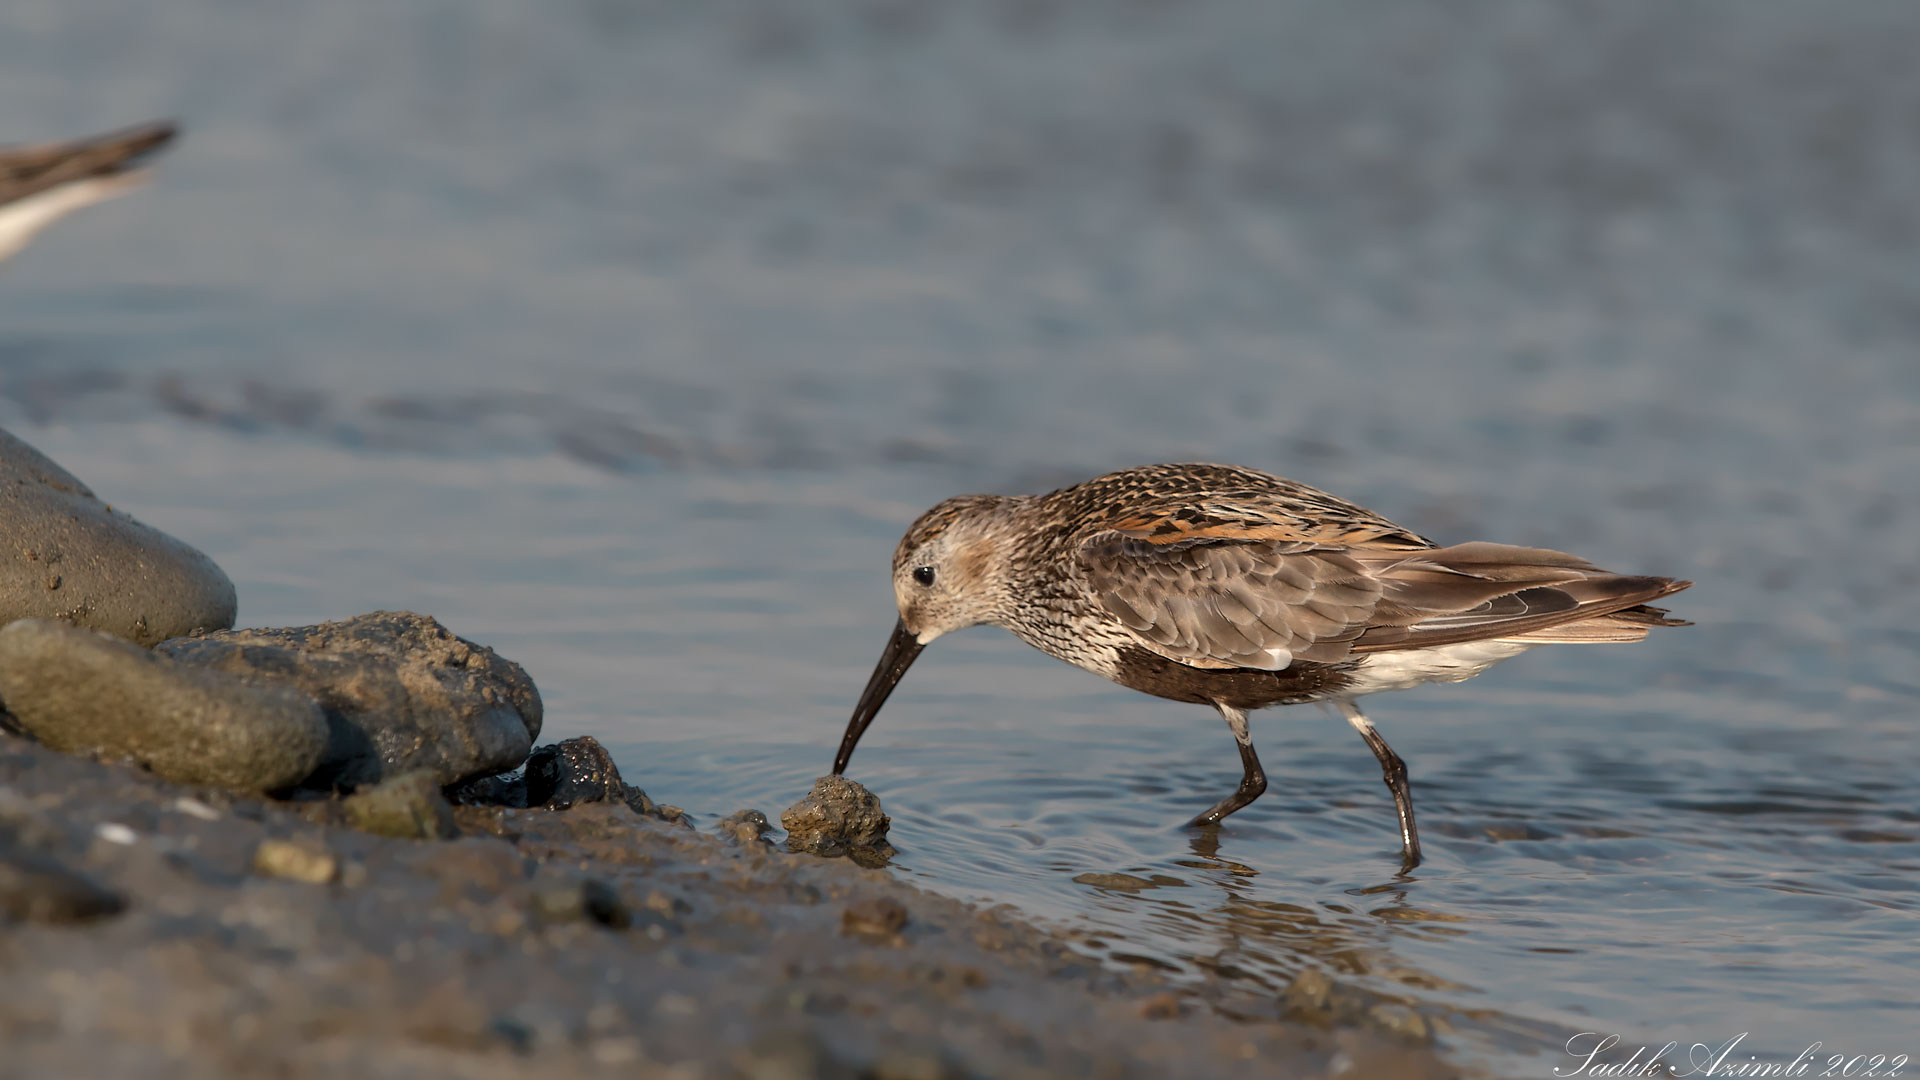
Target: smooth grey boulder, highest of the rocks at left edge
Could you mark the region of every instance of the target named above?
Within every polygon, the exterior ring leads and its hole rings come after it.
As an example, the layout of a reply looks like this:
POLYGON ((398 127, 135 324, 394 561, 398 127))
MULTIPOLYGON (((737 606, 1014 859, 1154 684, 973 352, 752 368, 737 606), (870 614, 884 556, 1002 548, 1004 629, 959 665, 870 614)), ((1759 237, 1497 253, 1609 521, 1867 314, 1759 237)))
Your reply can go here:
POLYGON ((140 646, 234 625, 213 559, 94 498, 0 430, 0 623, 63 619, 140 646))

